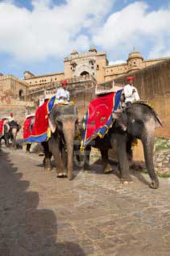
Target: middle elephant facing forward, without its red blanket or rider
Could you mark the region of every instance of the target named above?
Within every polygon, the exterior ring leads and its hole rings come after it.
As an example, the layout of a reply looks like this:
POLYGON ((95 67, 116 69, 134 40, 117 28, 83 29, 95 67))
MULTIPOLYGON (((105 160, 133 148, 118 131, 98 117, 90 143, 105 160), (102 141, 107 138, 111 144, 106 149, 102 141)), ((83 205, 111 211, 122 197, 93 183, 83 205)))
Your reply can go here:
POLYGON ((56 162, 57 177, 73 178, 74 138, 77 132, 77 107, 73 103, 55 105, 49 115, 52 136, 42 142, 44 168, 52 170, 51 157, 56 162))

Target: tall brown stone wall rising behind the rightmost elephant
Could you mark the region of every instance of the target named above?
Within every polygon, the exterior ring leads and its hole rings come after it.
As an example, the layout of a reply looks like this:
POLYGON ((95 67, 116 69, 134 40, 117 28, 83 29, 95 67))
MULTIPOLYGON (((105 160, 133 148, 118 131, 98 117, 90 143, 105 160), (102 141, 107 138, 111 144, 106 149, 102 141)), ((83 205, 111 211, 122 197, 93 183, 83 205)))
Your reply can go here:
MULTIPOLYGON (((170 59, 145 69, 132 72, 135 86, 141 99, 151 102, 163 122, 163 128, 155 131, 157 136, 170 137, 170 59)), ((126 76, 115 79, 118 84, 126 84, 126 76)), ((108 84, 112 81, 108 82, 108 84)))

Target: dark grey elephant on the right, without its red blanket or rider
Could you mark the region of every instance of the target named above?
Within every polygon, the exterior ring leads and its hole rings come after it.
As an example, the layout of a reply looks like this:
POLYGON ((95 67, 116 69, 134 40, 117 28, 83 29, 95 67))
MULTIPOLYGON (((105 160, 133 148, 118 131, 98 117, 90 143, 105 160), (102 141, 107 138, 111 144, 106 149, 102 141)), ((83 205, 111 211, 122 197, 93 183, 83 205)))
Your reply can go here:
POLYGON ((155 174, 153 151, 155 141, 155 128, 162 126, 160 118, 152 107, 147 103, 131 103, 123 111, 114 113, 114 124, 109 132, 100 138, 91 141, 85 149, 84 168, 89 168, 89 154, 91 146, 100 149, 102 155, 103 168, 107 172, 110 170, 108 164, 108 151, 117 145, 117 155, 122 183, 131 181, 129 170, 129 159, 131 158, 131 144, 135 139, 139 139, 143 144, 144 158, 147 172, 151 178, 150 187, 158 188, 159 180, 155 174))

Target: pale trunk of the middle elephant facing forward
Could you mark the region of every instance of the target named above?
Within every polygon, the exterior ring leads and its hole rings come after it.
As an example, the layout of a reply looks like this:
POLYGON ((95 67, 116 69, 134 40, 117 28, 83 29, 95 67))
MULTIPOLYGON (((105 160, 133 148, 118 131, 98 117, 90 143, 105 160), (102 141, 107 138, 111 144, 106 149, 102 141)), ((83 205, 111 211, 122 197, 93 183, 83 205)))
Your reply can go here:
POLYGON ((73 178, 73 144, 75 136, 75 121, 64 120, 63 132, 68 153, 68 179, 71 180, 73 178))

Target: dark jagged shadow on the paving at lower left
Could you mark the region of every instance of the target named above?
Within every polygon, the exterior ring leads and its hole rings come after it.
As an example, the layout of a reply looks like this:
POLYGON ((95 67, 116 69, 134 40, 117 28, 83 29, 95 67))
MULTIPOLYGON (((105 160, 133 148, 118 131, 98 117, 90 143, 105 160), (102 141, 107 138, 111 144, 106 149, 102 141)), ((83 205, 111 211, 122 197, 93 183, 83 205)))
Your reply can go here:
POLYGON ((0 255, 85 255, 73 242, 57 242, 57 220, 51 209, 38 208, 39 193, 0 151, 0 255))

